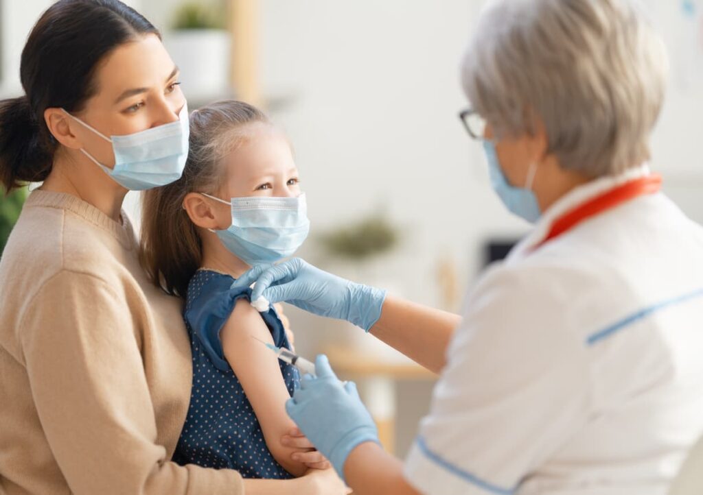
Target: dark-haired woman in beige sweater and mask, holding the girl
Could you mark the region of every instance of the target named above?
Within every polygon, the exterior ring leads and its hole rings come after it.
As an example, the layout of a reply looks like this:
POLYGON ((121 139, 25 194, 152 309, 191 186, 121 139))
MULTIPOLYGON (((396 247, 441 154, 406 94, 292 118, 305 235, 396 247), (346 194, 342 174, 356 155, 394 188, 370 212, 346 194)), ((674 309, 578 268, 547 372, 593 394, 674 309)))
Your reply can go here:
POLYGON ((0 263, 3 494, 344 492, 330 470, 242 480, 171 461, 191 349, 181 303, 148 281, 121 207, 128 190, 181 176, 178 76, 133 9, 60 0, 22 51, 25 95, 0 102, 1 183, 43 183, 0 263))

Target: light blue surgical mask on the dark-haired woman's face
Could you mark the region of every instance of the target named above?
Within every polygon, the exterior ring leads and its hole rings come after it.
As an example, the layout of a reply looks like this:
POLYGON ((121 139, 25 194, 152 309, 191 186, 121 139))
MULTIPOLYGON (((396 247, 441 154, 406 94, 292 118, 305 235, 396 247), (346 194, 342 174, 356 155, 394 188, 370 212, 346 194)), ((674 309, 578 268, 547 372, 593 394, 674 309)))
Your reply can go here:
POLYGON ((112 143, 112 152, 115 154, 115 166, 112 169, 101 164, 84 148, 81 148, 81 152, 122 187, 143 191, 170 184, 181 178, 188 158, 188 105, 183 105, 177 121, 146 131, 110 138, 66 110, 63 111, 79 124, 112 143))

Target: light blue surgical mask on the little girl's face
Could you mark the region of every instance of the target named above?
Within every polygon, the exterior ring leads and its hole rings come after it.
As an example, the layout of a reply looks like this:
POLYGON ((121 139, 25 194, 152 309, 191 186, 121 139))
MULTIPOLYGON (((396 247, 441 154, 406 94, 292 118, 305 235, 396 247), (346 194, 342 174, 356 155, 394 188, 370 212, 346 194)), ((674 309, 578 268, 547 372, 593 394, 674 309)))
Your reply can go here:
POLYGON ((247 265, 274 263, 291 256, 302 246, 310 230, 305 194, 299 197, 245 197, 230 202, 232 225, 211 230, 234 256, 247 265))

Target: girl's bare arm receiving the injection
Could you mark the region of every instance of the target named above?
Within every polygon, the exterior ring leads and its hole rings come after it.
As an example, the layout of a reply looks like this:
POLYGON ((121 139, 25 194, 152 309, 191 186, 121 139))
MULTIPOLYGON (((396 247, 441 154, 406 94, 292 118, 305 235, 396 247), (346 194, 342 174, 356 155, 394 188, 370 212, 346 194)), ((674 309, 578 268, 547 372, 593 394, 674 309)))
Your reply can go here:
POLYGON ((302 476, 307 466, 293 460, 292 454, 297 449, 280 442, 280 437, 294 428, 295 423, 285 413, 285 402, 290 399, 290 394, 280 374, 278 358, 259 342, 274 343, 264 320, 247 300, 240 299, 224 325, 220 339, 224 356, 257 415, 266 447, 285 470, 302 476))

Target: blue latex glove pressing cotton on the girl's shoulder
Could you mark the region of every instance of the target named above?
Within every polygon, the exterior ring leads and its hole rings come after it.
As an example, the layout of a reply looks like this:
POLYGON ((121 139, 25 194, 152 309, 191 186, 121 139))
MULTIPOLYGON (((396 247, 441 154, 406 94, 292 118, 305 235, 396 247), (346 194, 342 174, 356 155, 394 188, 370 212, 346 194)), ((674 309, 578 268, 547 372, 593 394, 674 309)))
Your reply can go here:
POLYGON ((386 298, 386 291, 336 277, 300 258, 257 265, 232 288, 240 291, 254 282, 252 301, 261 296, 271 304, 286 301, 315 315, 346 319, 366 331, 378 322, 386 298))

